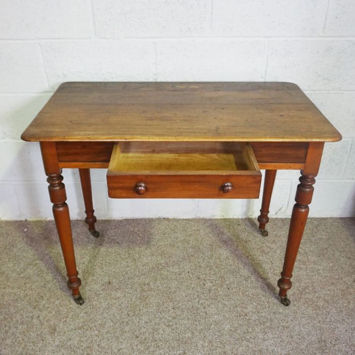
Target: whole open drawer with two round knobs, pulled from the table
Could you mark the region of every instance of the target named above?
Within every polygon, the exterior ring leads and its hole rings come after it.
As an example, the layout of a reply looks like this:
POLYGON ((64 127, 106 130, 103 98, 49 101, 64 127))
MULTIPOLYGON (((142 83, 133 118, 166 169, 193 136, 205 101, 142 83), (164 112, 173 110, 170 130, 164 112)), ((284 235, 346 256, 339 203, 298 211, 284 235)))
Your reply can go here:
POLYGON ((247 143, 118 142, 112 198, 258 198, 261 172, 247 143))

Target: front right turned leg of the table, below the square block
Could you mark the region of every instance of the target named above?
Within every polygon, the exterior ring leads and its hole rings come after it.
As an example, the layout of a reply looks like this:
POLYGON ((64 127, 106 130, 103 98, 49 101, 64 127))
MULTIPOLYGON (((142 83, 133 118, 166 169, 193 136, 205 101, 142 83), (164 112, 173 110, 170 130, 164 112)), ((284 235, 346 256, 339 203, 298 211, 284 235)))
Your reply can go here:
MULTIPOLYGON (((302 172, 301 172, 302 173, 302 172)), ((287 240, 285 261, 281 272, 281 278, 277 281, 277 286, 280 291, 281 303, 285 306, 290 304, 287 298, 287 291, 291 289, 292 271, 295 265, 298 248, 301 243, 304 228, 306 226, 309 207, 312 201, 313 184, 315 183, 316 175, 303 175, 300 177, 300 184, 297 186, 296 203, 292 210, 289 237, 287 240)))

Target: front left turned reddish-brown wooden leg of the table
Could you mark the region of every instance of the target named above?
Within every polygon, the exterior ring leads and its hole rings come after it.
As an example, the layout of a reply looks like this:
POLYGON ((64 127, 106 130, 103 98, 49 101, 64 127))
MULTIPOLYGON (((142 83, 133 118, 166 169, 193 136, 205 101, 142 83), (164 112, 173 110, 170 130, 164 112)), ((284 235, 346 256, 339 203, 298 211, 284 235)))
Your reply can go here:
POLYGON ((61 169, 58 166, 55 144, 52 142, 42 142, 41 152, 45 172, 48 176, 48 191, 50 200, 53 203, 54 221, 57 227, 66 273, 68 277, 67 286, 70 290, 72 290, 73 296, 78 299, 80 297, 79 287, 81 285, 81 280, 78 277, 78 271, 75 262, 69 208, 65 202, 65 186, 62 183, 63 176, 61 175, 61 169))

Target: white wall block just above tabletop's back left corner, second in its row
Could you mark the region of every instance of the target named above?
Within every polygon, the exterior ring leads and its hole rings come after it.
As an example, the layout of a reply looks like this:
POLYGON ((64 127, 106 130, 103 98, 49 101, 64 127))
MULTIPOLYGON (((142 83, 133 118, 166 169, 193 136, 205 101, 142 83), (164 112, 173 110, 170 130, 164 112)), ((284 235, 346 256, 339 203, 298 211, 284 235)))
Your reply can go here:
POLYGON ((152 81, 155 49, 148 41, 72 41, 41 44, 49 87, 64 81, 152 81))

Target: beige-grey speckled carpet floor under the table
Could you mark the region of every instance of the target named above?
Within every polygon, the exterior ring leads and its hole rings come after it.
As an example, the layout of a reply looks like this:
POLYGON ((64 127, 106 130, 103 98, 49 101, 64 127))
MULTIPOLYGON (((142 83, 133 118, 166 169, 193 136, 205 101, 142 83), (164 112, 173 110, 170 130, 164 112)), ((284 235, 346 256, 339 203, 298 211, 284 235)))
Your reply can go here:
POLYGON ((85 299, 53 221, 0 222, 0 353, 351 354, 354 219, 310 219, 291 305, 276 281, 288 219, 73 222, 85 299))

